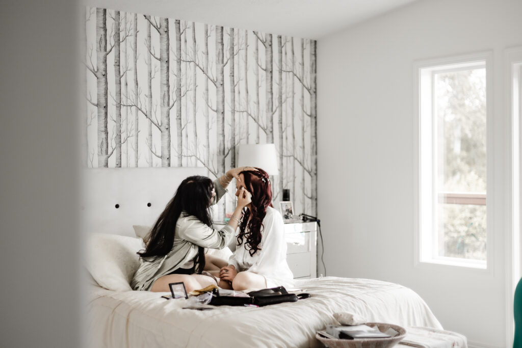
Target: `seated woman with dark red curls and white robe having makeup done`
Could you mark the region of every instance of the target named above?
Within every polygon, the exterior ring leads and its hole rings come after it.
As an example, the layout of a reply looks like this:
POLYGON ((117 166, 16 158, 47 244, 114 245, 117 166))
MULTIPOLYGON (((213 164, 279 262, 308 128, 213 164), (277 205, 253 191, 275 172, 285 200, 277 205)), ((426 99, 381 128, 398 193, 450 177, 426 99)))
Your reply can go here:
POLYGON ((283 218, 272 206, 268 174, 257 168, 241 172, 239 177, 235 195, 240 197, 246 190, 252 202, 243 211, 236 249, 229 265, 220 270, 219 285, 234 290, 292 286, 283 218))

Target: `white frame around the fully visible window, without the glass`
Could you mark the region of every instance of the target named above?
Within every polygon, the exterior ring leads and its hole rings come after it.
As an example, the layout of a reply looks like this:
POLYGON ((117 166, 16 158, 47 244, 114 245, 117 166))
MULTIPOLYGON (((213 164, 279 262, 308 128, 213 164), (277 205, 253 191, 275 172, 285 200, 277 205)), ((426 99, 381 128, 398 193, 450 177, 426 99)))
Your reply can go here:
MULTIPOLYGON (((474 54, 466 54, 452 57, 444 57, 437 59, 429 59, 425 61, 415 62, 413 64, 414 74, 414 265, 416 267, 459 267, 477 270, 479 272, 491 272, 493 265, 493 195, 488 195, 488 204, 486 206, 487 214, 487 245, 486 260, 468 260, 454 257, 442 257, 435 255, 435 241, 438 231, 435 228, 435 193, 433 184, 433 159, 435 150, 432 146, 435 129, 433 126, 433 74, 438 71, 447 71, 450 69, 462 70, 459 65, 466 64, 466 69, 470 67, 485 67, 486 69, 486 163, 487 163, 487 188, 493 187, 493 144, 492 122, 492 52, 480 52, 474 54), (427 76, 426 74, 430 74, 427 76), (428 93, 421 93, 428 90, 428 93), (428 95, 426 95, 428 94, 428 95), (429 115, 426 117, 426 115, 429 115), (429 120, 429 121, 426 121, 429 120), (429 122, 426 124, 425 122, 429 122), (428 159, 428 160, 427 160, 428 159), (422 174, 422 175, 421 175, 422 174)), ((469 196, 469 195, 468 195, 469 196)), ((483 202, 483 195, 474 195, 474 197, 466 197, 465 195, 451 195, 438 197, 437 199, 457 199, 464 202, 466 199, 472 199, 476 202, 483 202)))

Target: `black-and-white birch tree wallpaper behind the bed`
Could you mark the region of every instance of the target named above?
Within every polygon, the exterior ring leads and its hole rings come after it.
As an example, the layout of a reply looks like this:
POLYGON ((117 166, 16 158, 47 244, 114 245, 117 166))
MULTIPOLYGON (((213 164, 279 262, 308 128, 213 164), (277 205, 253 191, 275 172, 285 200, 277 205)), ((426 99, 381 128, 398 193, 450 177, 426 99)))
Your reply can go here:
POLYGON ((295 212, 316 213, 316 41, 85 11, 87 167, 204 166, 215 178, 240 143, 275 143, 274 201, 289 188, 295 212))

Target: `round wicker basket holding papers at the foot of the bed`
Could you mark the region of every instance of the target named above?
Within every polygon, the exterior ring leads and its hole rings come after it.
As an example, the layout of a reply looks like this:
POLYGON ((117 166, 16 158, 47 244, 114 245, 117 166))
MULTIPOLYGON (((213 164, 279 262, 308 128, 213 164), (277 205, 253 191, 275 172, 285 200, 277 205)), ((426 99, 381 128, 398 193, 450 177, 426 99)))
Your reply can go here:
POLYGON ((379 331, 385 332, 389 328, 394 329, 399 334, 395 337, 388 338, 364 338, 364 339, 353 339, 353 340, 333 340, 316 333, 315 338, 323 342, 327 347, 330 348, 387 348, 393 347, 399 343, 406 336, 406 330, 398 325, 385 324, 382 322, 367 322, 367 326, 377 326, 379 331))

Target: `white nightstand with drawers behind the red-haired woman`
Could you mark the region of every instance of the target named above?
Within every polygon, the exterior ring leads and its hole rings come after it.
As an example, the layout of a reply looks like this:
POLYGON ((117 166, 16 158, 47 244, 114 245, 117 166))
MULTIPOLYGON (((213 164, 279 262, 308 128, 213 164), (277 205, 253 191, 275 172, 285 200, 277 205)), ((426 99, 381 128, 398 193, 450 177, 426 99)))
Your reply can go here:
MULTIPOLYGON (((214 227, 221 229, 225 223, 214 222, 214 227)), ((287 241, 288 267, 294 279, 310 279, 317 277, 317 223, 289 222, 284 224, 287 241)), ((229 245, 234 251, 235 238, 229 245)))

